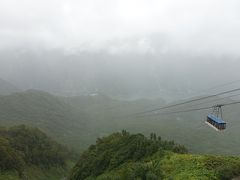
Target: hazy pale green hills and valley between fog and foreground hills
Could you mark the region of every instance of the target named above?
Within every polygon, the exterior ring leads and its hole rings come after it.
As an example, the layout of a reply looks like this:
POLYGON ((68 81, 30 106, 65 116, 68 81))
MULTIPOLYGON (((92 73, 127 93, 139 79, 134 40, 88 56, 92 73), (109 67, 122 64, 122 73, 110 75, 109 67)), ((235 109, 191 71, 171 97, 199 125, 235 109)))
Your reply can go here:
MULTIPOLYGON (((218 99, 215 97, 215 102, 189 104, 168 111, 233 101, 218 99)), ((166 139, 174 139, 185 145, 190 152, 239 155, 239 105, 223 109, 227 129, 221 133, 204 123, 211 110, 180 114, 161 114, 166 112, 161 111, 160 114, 149 113, 141 117, 134 115, 162 106, 166 106, 162 99, 123 101, 103 94, 60 97, 29 90, 0 96, 0 122, 6 126, 28 124, 38 127, 58 142, 79 151, 94 143, 97 137, 127 129, 145 135, 154 131, 166 139)))

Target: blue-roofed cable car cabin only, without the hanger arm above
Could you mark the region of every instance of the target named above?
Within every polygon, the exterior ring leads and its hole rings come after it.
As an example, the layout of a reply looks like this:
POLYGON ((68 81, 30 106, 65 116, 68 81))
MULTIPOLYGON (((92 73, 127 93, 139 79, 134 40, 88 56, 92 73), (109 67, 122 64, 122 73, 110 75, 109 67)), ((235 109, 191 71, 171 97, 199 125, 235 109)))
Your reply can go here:
POLYGON ((207 116, 206 123, 216 130, 226 129, 226 122, 224 122, 221 118, 219 118, 213 114, 209 114, 207 116))

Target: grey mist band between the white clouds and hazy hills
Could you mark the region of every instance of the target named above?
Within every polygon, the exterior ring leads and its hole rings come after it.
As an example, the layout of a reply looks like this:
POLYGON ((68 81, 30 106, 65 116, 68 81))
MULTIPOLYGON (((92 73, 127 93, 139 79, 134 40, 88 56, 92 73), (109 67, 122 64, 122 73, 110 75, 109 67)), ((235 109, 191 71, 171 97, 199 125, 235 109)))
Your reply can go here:
POLYGON ((103 93, 171 101, 240 77, 239 58, 227 55, 17 49, 0 51, 0 57, 0 77, 21 89, 64 96, 103 93))

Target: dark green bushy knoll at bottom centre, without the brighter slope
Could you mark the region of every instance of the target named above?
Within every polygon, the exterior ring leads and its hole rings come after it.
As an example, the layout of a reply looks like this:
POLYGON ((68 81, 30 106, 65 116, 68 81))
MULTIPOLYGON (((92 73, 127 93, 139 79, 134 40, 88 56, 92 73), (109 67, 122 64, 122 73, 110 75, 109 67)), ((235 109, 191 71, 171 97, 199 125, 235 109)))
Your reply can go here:
MULTIPOLYGON (((98 139, 96 145, 90 146, 81 155, 79 162, 73 168, 70 179, 94 178, 124 163, 136 163, 158 151, 164 152, 165 150, 179 153, 187 152, 185 147, 175 145, 173 141, 162 141, 155 134, 151 134, 150 139, 148 139, 142 134, 130 135, 126 131, 114 133, 98 139)), ((141 166, 141 164, 139 165, 141 166)), ((136 166, 136 171, 141 171, 138 169, 138 164, 136 166)))

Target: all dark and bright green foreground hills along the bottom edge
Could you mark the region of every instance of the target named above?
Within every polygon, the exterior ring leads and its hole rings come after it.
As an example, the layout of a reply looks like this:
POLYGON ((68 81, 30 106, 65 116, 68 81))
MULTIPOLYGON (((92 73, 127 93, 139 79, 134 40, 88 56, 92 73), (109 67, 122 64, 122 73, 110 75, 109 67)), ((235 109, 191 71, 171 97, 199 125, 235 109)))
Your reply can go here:
POLYGON ((126 130, 98 138, 78 157, 39 129, 20 125, 0 128, 0 173, 0 180, 227 180, 240 176, 240 158, 194 155, 155 133, 147 138, 126 130))

